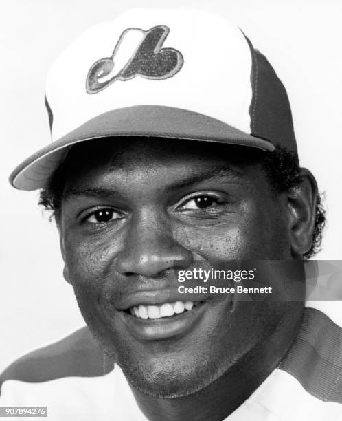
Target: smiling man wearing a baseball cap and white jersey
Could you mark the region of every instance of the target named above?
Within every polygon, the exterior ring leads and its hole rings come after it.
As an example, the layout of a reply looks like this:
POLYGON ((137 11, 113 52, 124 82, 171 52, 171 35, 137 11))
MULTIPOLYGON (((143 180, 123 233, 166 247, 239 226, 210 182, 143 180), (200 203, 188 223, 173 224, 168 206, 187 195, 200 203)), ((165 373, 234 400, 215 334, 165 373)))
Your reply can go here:
POLYGON ((87 328, 10 366, 1 405, 56 420, 341 418, 341 328, 304 311, 317 184, 244 34, 194 10, 128 12, 56 61, 45 103, 53 142, 10 181, 41 188, 87 328), (180 292, 181 271, 222 264, 273 294, 180 292))

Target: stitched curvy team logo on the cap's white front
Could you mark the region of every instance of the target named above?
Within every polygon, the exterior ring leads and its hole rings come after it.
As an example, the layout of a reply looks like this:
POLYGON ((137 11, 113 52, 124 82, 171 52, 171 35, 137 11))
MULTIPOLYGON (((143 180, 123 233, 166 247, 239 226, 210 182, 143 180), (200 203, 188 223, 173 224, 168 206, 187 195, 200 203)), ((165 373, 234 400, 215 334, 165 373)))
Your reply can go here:
POLYGON ((136 76, 162 80, 178 73, 184 63, 182 54, 174 48, 162 48, 169 32, 165 25, 147 31, 140 28, 124 30, 112 56, 100 58, 89 69, 88 94, 102 91, 115 80, 130 80, 136 76), (115 68, 118 69, 116 73, 115 68))

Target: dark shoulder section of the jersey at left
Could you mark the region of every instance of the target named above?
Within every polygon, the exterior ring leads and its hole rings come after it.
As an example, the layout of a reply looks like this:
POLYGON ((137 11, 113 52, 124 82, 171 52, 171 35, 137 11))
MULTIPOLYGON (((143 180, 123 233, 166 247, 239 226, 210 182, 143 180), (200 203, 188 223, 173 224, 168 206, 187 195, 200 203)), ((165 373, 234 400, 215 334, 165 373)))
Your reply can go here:
POLYGON ((0 375, 0 387, 7 380, 36 383, 71 376, 103 376, 113 367, 89 329, 82 327, 14 361, 0 375))

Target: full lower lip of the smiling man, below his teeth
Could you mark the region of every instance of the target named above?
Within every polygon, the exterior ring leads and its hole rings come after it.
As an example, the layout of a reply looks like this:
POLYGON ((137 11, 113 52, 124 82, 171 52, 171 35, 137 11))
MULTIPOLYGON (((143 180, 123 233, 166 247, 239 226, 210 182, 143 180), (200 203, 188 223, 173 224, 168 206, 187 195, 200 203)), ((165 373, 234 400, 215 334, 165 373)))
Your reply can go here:
POLYGON ((201 318, 207 303, 200 303, 192 310, 160 319, 139 319, 122 312, 124 323, 135 338, 144 341, 158 341, 185 334, 201 318))

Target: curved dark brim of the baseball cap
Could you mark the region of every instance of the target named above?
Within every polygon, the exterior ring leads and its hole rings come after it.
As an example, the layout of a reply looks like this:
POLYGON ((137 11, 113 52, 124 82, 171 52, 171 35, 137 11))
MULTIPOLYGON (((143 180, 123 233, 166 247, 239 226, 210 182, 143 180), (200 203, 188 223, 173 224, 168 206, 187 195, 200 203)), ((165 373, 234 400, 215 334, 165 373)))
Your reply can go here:
POLYGON ((92 118, 34 153, 12 171, 10 183, 21 190, 43 188, 73 144, 111 136, 204 140, 274 150, 268 140, 244 133, 216 118, 174 107, 136 105, 92 118))

